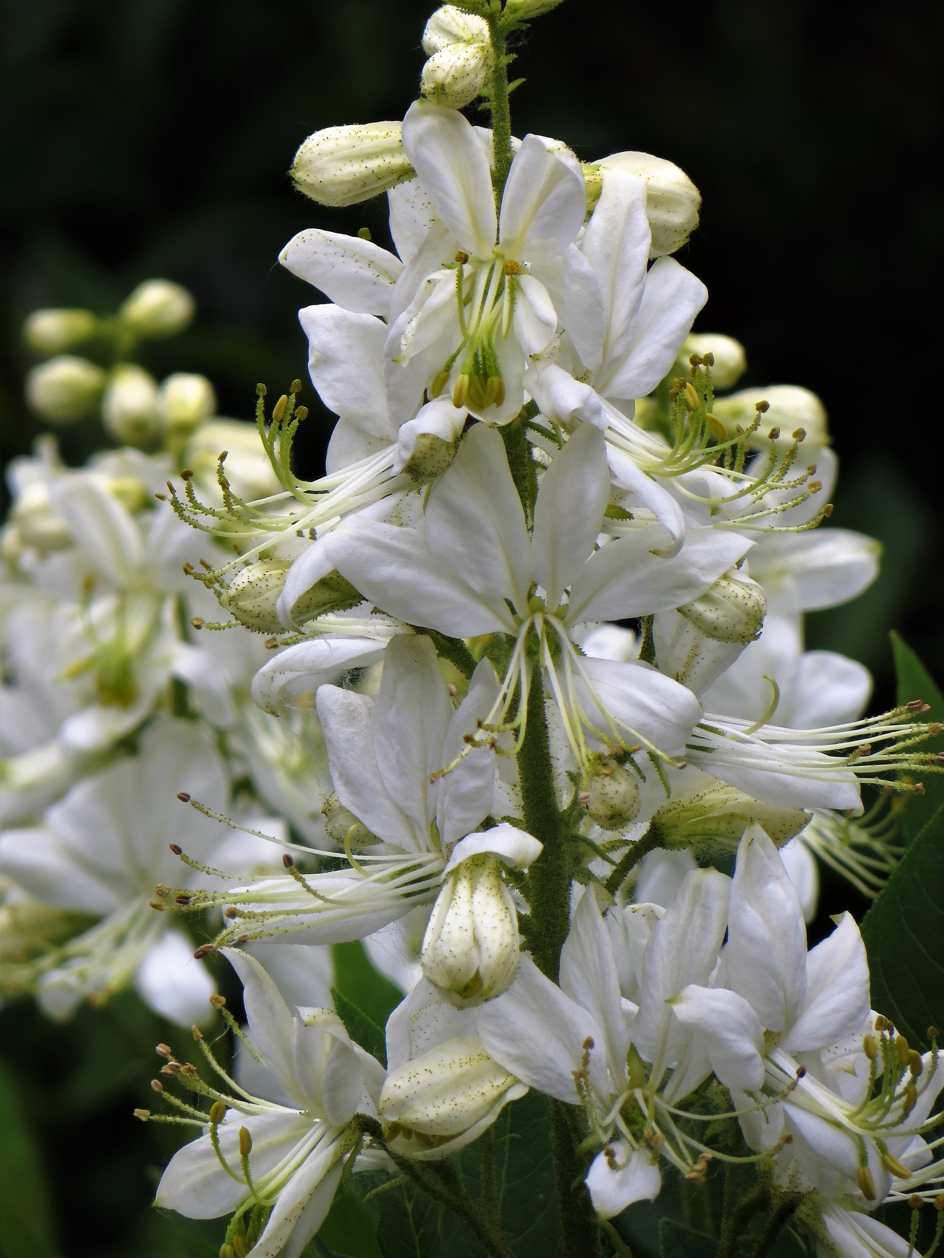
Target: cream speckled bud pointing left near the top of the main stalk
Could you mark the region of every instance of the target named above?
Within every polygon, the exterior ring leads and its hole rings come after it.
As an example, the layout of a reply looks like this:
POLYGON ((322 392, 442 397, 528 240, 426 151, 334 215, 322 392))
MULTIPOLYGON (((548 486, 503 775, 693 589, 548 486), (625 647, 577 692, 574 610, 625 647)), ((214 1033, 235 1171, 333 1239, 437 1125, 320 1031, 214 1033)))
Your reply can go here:
POLYGON ((316 131, 302 143, 291 176, 321 205, 356 205, 413 179, 399 122, 368 122, 316 131))

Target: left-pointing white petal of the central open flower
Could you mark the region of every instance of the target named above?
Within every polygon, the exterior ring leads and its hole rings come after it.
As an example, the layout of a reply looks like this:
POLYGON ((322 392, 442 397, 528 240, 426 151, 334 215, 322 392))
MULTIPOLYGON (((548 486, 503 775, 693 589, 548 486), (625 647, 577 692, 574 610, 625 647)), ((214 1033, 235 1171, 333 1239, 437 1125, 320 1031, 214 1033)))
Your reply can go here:
POLYGON ((428 521, 425 528, 398 528, 356 516, 347 531, 329 533, 325 543, 339 572, 405 624, 458 638, 514 633, 503 601, 472 590, 448 559, 429 548, 429 531, 428 521))

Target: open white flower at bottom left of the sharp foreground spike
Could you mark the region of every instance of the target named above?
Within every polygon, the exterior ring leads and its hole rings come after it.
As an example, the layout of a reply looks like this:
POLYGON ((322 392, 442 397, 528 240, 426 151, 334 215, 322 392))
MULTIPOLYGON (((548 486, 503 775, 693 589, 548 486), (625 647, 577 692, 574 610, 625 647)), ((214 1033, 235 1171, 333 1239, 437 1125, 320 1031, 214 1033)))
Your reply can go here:
POLYGON ((234 1214, 227 1237, 240 1240, 240 1253, 295 1258, 331 1208, 355 1144, 347 1123, 357 1111, 375 1113, 384 1071, 336 1014, 292 1011, 257 960, 232 949, 227 956, 243 981, 253 1049, 287 1103, 211 1089, 227 1116, 174 1155, 155 1205, 190 1219, 234 1214))

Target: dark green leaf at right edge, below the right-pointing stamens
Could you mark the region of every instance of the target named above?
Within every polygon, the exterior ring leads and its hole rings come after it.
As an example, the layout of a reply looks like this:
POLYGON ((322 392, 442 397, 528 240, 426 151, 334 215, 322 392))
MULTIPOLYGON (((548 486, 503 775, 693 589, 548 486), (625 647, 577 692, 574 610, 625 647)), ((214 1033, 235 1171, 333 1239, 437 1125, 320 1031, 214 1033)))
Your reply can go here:
POLYGON ((944 1028, 944 804, 913 839, 862 921, 872 1008, 913 1048, 928 1047, 928 1025, 944 1028))

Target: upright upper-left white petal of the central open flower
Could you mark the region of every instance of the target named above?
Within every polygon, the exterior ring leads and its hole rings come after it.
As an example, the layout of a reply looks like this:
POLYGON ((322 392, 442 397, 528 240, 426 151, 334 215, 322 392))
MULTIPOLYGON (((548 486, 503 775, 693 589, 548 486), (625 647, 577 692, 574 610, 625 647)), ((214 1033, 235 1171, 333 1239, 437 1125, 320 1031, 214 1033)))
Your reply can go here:
POLYGON ((525 608, 531 584, 525 512, 496 429, 476 424, 463 438, 429 496, 425 522, 430 548, 472 590, 525 608))

